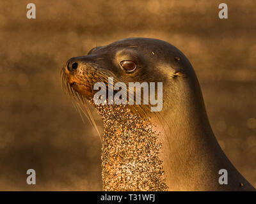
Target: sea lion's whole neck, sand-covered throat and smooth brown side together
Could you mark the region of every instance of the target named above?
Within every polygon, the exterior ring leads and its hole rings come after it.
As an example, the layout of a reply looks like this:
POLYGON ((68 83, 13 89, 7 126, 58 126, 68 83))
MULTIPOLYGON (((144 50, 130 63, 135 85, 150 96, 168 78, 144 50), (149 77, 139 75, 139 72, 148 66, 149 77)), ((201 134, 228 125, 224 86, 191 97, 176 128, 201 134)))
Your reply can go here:
POLYGON ((183 94, 179 103, 168 99, 161 112, 148 113, 150 119, 125 105, 97 107, 104 123, 104 191, 253 189, 218 145, 201 92, 183 94), (218 183, 221 169, 228 185, 218 183))

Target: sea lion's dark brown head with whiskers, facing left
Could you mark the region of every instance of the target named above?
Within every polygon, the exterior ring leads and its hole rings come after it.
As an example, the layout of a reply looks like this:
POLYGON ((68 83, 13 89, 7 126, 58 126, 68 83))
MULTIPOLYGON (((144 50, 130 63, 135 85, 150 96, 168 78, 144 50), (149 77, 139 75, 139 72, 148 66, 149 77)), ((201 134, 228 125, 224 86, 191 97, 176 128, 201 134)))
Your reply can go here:
POLYGON ((163 82, 163 104, 168 108, 183 103, 177 99, 198 97, 191 90, 201 94, 186 56, 170 43, 152 38, 126 38, 92 48, 85 56, 69 59, 63 72, 71 89, 87 99, 93 98, 95 83, 108 86, 108 77, 127 86, 129 82, 163 82))

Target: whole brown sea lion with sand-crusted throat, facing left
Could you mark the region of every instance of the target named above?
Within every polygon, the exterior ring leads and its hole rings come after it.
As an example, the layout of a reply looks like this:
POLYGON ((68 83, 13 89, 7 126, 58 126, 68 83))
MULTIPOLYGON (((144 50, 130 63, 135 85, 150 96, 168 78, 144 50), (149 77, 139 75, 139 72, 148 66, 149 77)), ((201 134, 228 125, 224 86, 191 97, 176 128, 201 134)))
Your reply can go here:
POLYGON ((190 62, 166 41, 127 38, 72 57, 63 85, 92 103, 93 85, 163 82, 163 109, 148 105, 95 105, 104 122, 105 191, 253 191, 230 163, 212 132, 190 62), (227 170, 228 184, 219 171, 227 170), (243 184, 243 185, 241 185, 243 184))

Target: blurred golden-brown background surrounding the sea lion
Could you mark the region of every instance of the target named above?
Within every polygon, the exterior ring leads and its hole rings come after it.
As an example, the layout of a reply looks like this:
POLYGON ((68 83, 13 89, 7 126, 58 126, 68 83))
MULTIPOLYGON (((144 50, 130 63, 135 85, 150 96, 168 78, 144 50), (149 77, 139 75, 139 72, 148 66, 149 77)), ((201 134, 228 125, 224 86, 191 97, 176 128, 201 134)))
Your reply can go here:
POLYGON ((60 70, 131 36, 168 41, 188 57, 218 142, 256 187, 255 0, 1 0, 0 10, 0 190, 101 190, 99 137, 61 90, 60 70), (29 168, 36 185, 26 184, 29 168))

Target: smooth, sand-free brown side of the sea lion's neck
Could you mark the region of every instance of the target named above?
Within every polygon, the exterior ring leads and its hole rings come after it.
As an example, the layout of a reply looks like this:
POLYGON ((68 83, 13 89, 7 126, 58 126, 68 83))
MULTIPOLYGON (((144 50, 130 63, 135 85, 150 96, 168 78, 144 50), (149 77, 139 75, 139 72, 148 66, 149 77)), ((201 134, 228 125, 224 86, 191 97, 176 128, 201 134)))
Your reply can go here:
POLYGON ((179 103, 163 105, 165 109, 157 117, 152 117, 153 124, 159 124, 159 120, 163 124, 157 129, 163 143, 160 159, 168 190, 241 191, 240 183, 250 189, 252 186, 221 150, 207 119, 202 95, 198 94, 184 92, 179 103), (228 171, 228 185, 218 182, 221 169, 228 171))

